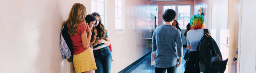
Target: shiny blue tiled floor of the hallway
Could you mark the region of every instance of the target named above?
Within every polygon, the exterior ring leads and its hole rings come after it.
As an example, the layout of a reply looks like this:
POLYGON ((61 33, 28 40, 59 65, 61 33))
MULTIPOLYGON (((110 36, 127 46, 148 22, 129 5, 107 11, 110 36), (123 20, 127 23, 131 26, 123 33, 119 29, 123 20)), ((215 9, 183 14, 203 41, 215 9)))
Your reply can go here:
MULTIPOLYGON (((184 55, 186 53, 186 46, 183 46, 183 57, 182 57, 182 62, 181 65, 178 67, 177 69, 177 73, 184 73, 185 71, 185 60, 184 55)), ((137 65, 135 65, 134 67, 132 67, 131 69, 129 69, 127 72, 125 73, 155 73, 154 72, 154 65, 150 66, 150 62, 151 62, 151 58, 150 55, 148 55, 145 59, 143 59, 141 62, 139 62, 137 65)), ((166 71, 167 73, 167 71, 166 71)))

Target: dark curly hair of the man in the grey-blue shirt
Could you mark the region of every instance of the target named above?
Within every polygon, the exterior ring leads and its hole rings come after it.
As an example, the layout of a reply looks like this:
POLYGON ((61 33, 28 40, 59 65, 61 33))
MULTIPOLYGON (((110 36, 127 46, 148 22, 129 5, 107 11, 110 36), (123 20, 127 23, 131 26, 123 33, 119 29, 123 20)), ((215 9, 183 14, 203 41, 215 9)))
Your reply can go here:
POLYGON ((164 22, 171 22, 175 20, 176 17, 177 17, 177 13, 173 9, 167 9, 162 15, 164 22))

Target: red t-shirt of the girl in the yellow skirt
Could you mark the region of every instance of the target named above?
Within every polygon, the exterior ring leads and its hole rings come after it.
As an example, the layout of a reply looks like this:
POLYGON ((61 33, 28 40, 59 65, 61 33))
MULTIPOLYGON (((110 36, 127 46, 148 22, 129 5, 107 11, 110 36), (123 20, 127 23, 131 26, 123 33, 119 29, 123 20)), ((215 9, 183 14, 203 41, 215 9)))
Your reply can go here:
MULTIPOLYGON (((83 22, 80 22, 80 24, 83 23, 83 22)), ((67 23, 67 26, 69 28, 69 23, 67 23)), ((81 39, 81 35, 83 34, 83 32, 86 30, 86 33, 88 33, 87 31, 87 26, 86 24, 81 24, 77 27, 78 29, 78 32, 76 35, 73 35, 73 36, 70 36, 71 38, 71 43, 72 43, 72 47, 73 47, 73 50, 74 50, 74 54, 80 54, 82 53, 83 51, 85 51, 86 49, 83 47, 82 45, 82 39, 81 39)), ((89 46, 88 46, 89 47, 89 46)), ((88 48, 87 48, 88 49, 88 48)))

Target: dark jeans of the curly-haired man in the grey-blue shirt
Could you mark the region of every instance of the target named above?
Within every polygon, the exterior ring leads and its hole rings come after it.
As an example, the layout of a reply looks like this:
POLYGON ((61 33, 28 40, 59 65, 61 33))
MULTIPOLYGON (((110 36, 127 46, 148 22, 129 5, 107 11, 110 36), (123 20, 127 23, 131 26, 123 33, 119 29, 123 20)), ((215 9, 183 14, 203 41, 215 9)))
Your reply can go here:
POLYGON ((156 73, 177 73, 177 65, 170 67, 170 68, 155 68, 156 73))

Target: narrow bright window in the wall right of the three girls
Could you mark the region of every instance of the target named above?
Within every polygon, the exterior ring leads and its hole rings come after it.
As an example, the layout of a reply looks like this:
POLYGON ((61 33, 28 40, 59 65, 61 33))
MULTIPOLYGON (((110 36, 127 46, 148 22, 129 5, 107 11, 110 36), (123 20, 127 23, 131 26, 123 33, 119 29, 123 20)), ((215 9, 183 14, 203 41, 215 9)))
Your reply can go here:
POLYGON ((115 30, 124 31, 124 0, 115 0, 115 30))

